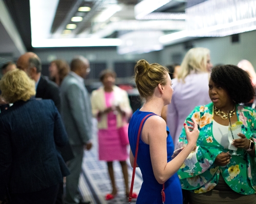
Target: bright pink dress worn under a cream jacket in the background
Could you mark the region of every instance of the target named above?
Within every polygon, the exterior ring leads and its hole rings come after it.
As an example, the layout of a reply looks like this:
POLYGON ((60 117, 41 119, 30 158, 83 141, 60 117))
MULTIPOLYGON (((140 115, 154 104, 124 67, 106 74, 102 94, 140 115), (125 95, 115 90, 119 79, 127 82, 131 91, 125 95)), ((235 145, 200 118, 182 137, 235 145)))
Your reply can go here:
MULTIPOLYGON (((106 108, 112 106, 114 92, 104 92, 106 108)), ((125 161, 128 157, 126 146, 121 145, 118 129, 116 126, 116 115, 114 112, 108 114, 108 129, 99 129, 99 160, 104 161, 125 161)))

